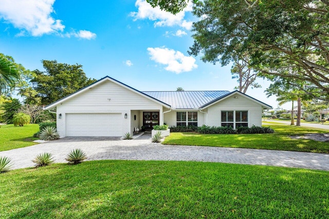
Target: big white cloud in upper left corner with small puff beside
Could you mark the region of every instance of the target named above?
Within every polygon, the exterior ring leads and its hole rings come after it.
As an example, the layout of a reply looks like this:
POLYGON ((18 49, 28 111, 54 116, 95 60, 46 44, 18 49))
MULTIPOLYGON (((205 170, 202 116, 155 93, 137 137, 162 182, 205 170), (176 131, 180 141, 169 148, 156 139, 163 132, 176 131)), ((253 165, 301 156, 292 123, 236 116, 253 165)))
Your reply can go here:
MULTIPOLYGON (((55 0, 1 0, 0 18, 11 23, 21 32, 17 36, 58 33, 62 35, 65 26, 60 19, 54 19, 53 4, 55 0)), ((96 34, 90 31, 80 30, 75 33, 79 38, 95 38, 96 34)), ((71 34, 64 34, 70 36, 71 34)))

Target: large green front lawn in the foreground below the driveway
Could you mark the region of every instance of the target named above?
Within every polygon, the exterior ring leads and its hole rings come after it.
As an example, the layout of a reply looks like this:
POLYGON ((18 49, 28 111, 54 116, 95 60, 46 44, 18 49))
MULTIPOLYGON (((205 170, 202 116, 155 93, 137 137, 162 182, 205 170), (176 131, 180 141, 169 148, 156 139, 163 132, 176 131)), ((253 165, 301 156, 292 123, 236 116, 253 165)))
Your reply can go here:
POLYGON ((1 218, 328 218, 329 172, 95 161, 0 177, 1 218))

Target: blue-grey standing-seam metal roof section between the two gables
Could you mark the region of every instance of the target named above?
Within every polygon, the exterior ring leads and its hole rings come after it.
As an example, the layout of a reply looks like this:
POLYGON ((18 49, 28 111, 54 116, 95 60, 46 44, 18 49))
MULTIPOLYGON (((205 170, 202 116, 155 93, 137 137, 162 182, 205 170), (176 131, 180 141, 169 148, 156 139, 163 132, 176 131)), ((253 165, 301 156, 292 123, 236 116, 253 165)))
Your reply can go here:
POLYGON ((214 99, 225 96, 229 91, 142 91, 176 109, 196 109, 214 99))

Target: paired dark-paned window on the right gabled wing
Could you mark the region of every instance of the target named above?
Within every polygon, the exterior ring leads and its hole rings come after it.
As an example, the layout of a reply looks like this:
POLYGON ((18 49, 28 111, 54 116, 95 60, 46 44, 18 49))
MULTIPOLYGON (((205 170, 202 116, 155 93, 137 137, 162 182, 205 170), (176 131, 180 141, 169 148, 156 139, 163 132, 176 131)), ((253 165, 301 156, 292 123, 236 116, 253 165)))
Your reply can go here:
POLYGON ((248 126, 248 111, 222 111, 222 126, 236 129, 248 126))

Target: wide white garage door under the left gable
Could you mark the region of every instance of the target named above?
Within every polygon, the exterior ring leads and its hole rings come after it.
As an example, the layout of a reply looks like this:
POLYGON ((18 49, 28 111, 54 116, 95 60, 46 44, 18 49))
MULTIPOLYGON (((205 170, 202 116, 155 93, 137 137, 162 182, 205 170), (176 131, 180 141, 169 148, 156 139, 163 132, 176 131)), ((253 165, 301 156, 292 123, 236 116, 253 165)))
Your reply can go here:
POLYGON ((121 113, 68 113, 66 136, 121 136, 121 113))

